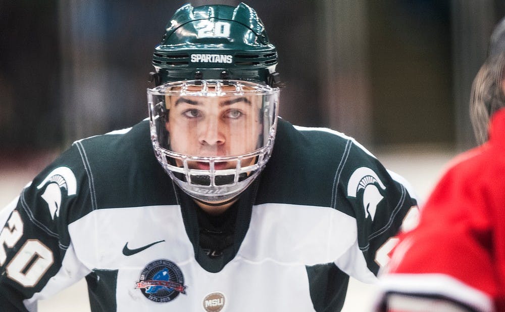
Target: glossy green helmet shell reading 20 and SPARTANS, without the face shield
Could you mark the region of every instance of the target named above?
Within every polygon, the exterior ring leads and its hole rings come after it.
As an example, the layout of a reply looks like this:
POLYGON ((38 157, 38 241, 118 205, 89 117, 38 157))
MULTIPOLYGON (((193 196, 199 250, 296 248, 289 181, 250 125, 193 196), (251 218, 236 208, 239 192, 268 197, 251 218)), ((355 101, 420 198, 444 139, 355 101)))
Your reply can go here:
POLYGON ((256 11, 241 3, 178 9, 155 48, 151 81, 233 79, 280 86, 277 51, 256 11))

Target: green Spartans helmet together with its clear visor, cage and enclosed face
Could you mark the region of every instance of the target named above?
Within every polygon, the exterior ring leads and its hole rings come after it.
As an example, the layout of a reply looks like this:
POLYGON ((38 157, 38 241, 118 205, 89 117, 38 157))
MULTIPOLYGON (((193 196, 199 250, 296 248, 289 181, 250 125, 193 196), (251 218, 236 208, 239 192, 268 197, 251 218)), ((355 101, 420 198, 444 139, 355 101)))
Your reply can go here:
POLYGON ((158 161, 194 199, 229 203, 259 176, 274 145, 280 81, 263 23, 244 4, 185 5, 153 65, 147 104, 158 161))

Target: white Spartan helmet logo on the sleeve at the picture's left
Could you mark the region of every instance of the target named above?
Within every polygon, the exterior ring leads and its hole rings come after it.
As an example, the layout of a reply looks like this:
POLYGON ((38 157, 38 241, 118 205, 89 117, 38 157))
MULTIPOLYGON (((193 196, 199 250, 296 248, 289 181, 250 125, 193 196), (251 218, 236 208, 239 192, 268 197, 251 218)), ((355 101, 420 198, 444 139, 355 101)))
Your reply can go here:
POLYGON ((44 186, 46 188, 41 197, 47 203, 51 218, 54 220, 60 216, 62 189, 67 191, 67 196, 75 195, 77 192, 74 172, 68 167, 58 167, 47 174, 45 179, 37 186, 37 189, 40 190, 44 186))

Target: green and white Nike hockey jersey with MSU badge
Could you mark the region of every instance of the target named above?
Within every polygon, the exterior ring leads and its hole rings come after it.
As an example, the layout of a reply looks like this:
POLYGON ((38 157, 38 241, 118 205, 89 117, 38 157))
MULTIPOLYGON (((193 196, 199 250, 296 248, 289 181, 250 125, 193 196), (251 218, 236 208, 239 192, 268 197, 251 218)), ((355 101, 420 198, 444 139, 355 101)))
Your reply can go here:
POLYGON ((0 306, 35 311, 85 277, 93 312, 338 311, 349 275, 376 279, 411 196, 354 140, 280 119, 228 255, 210 257, 142 121, 75 142, 3 211, 0 306))

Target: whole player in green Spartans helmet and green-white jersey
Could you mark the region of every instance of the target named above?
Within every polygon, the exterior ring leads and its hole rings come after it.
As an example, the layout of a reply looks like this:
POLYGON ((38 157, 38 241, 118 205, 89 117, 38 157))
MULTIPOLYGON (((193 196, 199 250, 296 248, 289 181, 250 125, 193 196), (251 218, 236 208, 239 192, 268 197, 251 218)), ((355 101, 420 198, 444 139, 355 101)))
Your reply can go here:
POLYGON ((349 276, 374 282, 416 200, 353 139, 278 118, 276 64, 250 7, 180 8, 149 118, 76 141, 2 211, 1 309, 85 277, 93 312, 338 311, 349 276))

